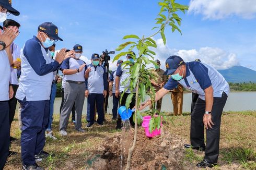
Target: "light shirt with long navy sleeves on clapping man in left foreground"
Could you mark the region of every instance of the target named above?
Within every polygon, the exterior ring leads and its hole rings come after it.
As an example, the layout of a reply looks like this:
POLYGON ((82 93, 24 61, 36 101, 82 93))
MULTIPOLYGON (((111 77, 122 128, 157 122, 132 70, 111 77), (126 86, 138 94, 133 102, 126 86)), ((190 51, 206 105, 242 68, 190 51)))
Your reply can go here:
POLYGON ((59 63, 52 62, 40 41, 33 37, 21 50, 21 75, 16 98, 26 101, 50 100, 53 71, 59 63))

